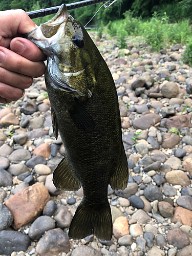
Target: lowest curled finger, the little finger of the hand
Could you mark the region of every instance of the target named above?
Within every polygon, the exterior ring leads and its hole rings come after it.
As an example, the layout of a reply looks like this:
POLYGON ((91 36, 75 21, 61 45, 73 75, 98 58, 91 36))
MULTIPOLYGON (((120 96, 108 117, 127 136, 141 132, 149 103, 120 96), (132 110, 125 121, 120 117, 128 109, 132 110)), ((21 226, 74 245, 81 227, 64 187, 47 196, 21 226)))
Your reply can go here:
POLYGON ((19 89, 13 86, 9 86, 9 84, 0 82, 1 98, 6 99, 9 102, 18 100, 20 97, 23 96, 23 93, 24 93, 24 89, 19 89))

